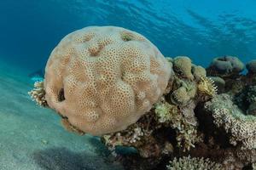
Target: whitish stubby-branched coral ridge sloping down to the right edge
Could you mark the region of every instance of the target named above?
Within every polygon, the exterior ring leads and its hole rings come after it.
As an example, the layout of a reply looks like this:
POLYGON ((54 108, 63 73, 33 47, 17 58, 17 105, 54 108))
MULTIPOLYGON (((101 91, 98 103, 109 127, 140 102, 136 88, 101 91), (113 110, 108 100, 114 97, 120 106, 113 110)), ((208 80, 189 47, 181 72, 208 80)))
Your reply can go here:
POLYGON ((223 127, 230 134, 230 144, 256 149, 256 116, 245 115, 228 94, 216 95, 205 106, 217 127, 223 127))

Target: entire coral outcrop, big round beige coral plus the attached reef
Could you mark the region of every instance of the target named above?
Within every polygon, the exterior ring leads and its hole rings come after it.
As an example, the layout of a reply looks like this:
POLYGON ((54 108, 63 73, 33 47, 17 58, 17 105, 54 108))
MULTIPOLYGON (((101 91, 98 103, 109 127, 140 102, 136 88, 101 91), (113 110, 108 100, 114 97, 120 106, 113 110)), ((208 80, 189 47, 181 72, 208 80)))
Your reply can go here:
POLYGON ((137 32, 90 26, 61 40, 29 94, 67 130, 113 152, 135 148, 120 159, 127 169, 256 169, 255 74, 256 60, 218 57, 204 69, 137 32))

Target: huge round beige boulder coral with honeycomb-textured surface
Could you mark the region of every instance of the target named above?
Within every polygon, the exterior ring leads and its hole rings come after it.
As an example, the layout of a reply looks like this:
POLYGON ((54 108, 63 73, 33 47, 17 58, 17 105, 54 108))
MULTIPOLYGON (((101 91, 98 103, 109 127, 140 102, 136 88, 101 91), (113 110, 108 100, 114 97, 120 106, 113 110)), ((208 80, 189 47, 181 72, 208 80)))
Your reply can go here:
POLYGON ((151 109, 170 74, 171 65, 146 37, 90 26, 68 34, 50 54, 45 99, 84 133, 113 133, 151 109))

